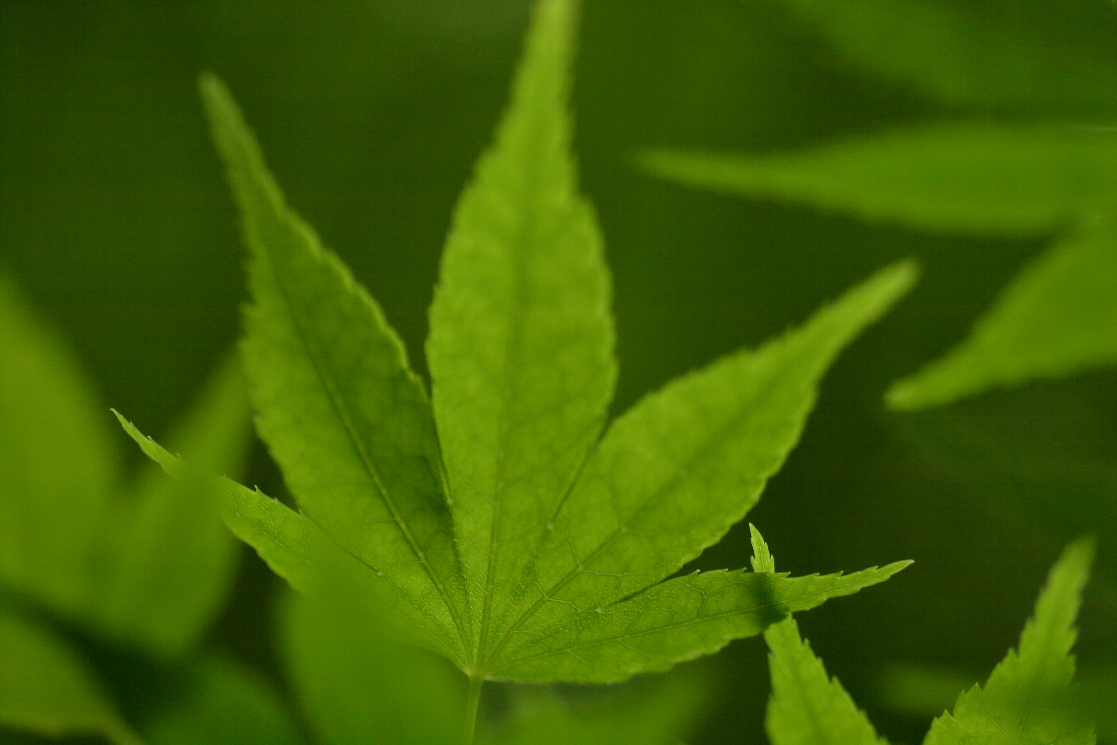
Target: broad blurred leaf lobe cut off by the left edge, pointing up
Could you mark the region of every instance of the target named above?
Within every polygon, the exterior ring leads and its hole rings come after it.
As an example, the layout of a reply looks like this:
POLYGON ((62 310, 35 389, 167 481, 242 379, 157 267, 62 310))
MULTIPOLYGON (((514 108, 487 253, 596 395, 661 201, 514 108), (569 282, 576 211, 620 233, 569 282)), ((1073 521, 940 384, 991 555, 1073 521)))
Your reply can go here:
POLYGON ((76 615, 116 452, 76 361, 2 275, 0 361, 0 584, 76 615))

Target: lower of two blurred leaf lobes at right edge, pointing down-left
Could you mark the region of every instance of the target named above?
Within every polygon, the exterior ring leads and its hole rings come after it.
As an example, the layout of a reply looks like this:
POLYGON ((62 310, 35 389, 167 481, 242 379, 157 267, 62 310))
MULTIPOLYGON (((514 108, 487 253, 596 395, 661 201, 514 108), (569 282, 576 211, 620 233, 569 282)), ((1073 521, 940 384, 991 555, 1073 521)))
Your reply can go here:
POLYGON ((945 357, 888 392, 894 409, 1117 364, 1117 226, 1095 218, 1027 266, 945 357))

